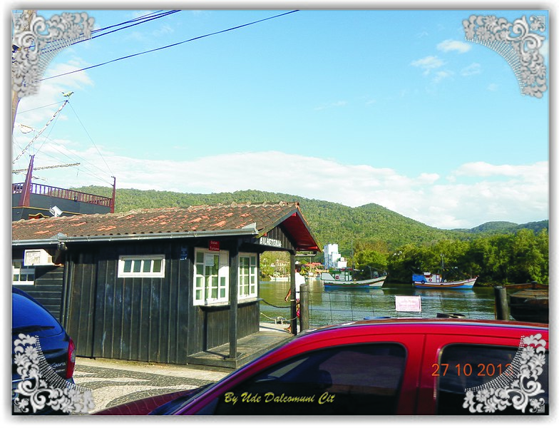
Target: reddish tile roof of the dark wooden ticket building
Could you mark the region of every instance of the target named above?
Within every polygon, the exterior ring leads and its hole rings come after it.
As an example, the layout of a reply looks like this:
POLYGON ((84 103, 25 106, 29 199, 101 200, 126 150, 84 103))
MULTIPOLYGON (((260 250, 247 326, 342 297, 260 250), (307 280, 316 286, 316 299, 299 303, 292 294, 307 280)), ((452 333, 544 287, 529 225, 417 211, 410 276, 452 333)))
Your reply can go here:
MULTIPOLYGON (((125 238, 137 235, 265 235, 282 223, 297 250, 319 250, 299 209, 299 203, 232 203, 188 208, 150 208, 127 213, 72 215, 19 220, 11 223, 14 243, 56 239, 63 234, 72 240, 125 238), (257 232, 255 232, 255 228, 257 232), (251 232, 252 231, 252 232, 251 232)), ((163 237, 163 236, 162 236, 163 237)))

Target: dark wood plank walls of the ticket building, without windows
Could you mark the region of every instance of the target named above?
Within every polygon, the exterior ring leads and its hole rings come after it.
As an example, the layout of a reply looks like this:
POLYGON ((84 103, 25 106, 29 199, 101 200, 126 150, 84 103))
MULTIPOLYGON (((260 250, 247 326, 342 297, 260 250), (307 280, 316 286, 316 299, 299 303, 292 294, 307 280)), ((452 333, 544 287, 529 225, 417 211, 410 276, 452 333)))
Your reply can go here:
MULTIPOLYGON (((283 248, 263 248, 252 240, 245 241, 241 250, 292 248, 280 228, 268 237, 280 240, 283 248)), ((223 250, 237 245, 235 238, 220 243, 223 250)), ((207 248, 207 240, 68 245, 65 327, 76 343, 77 355, 185 364, 188 355, 229 342, 229 306, 193 306, 195 247, 207 248), (181 258, 185 253, 188 258, 181 258), (119 256, 148 254, 165 254, 164 278, 118 277, 119 256)), ((58 316, 64 315, 60 313, 63 275, 63 268, 58 267, 34 286, 53 287, 49 290, 57 293, 53 301, 58 303, 58 316)), ((257 332, 259 303, 240 302, 238 311, 237 337, 257 332)))

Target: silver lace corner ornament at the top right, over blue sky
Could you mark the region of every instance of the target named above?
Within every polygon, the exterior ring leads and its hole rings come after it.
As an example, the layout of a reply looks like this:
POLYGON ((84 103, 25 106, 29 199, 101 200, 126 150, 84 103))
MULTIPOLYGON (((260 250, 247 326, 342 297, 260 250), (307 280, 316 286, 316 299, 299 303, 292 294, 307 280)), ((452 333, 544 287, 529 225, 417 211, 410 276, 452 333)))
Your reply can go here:
POLYGON ((462 21, 466 40, 487 46, 511 66, 522 95, 541 98, 547 91, 547 68, 540 54, 545 36, 532 31, 545 31, 545 16, 516 19, 513 24, 496 16, 472 15, 462 21))

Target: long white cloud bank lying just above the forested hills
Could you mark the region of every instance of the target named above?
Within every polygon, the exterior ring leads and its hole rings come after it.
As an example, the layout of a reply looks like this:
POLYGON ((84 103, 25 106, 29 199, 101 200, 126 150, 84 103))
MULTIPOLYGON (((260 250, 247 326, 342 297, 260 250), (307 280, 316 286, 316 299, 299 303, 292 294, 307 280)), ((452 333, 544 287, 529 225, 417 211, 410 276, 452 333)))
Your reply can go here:
MULTIPOLYGON (((88 156, 95 158, 94 153, 88 156)), ((219 193, 265 190, 356 207, 376 203, 437 228, 472 228, 493 220, 548 218, 548 163, 468 163, 442 182, 435 173, 402 175, 391 168, 344 165, 279 151, 229 153, 193 161, 105 156, 118 188, 219 193), (188 171, 188 177, 178 171, 188 171), (495 178, 499 178, 495 180, 495 178)), ((92 161, 93 162, 93 161, 92 161)), ((101 161, 98 168, 106 169, 101 161)), ((89 175, 62 175, 89 185, 89 175)), ((53 184, 54 185, 54 184, 53 184)))

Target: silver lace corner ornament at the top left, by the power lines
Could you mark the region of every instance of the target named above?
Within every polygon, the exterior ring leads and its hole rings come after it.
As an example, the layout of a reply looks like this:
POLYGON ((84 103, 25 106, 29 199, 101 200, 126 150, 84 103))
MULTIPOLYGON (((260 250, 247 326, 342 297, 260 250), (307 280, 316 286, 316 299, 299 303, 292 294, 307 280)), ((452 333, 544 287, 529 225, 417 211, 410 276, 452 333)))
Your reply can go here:
POLYGON ((48 63, 61 49, 90 39, 95 22, 85 12, 44 19, 35 11, 24 11, 13 19, 11 86, 19 98, 37 93, 48 63))

